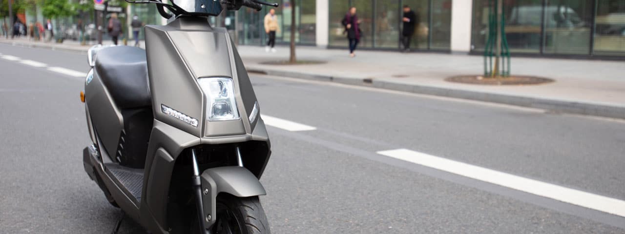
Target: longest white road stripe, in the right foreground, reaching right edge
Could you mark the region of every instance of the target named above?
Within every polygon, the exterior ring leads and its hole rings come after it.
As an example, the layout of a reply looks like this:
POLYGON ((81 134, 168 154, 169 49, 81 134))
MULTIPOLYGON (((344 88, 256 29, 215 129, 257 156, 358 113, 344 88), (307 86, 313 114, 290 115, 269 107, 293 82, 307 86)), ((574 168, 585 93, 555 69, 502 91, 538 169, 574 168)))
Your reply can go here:
POLYGON ((625 217, 625 201, 616 198, 582 192, 407 149, 384 150, 377 152, 377 154, 625 217))

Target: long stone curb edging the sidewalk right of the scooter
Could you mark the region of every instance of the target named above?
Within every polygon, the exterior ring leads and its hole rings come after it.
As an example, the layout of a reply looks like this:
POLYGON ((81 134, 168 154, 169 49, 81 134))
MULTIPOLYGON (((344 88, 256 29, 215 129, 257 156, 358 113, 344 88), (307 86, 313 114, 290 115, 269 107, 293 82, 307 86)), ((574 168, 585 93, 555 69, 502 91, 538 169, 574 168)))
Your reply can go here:
POLYGON ((379 89, 411 92, 415 94, 436 95, 457 99, 468 99, 482 102, 494 102, 498 104, 517 105, 521 107, 550 110, 552 112, 625 119, 625 105, 611 105, 594 102, 576 102, 571 100, 557 99, 541 99, 536 97, 506 95, 491 92, 477 92, 472 90, 451 89, 429 85, 402 84, 398 82, 389 82, 386 80, 322 76, 301 72, 280 71, 276 69, 262 69, 253 66, 248 67, 247 71, 252 73, 266 74, 269 76, 284 76, 296 79, 320 80, 327 82, 337 82, 340 84, 360 85, 367 87, 376 87, 379 89))

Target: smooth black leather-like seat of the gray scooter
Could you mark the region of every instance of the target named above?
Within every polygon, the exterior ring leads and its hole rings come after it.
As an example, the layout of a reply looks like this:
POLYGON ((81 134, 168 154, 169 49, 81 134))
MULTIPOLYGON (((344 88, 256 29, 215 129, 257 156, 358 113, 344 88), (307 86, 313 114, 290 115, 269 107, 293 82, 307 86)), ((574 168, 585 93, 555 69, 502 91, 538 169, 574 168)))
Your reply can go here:
POLYGON ((98 51, 96 71, 120 108, 151 107, 146 51, 114 46, 98 51))

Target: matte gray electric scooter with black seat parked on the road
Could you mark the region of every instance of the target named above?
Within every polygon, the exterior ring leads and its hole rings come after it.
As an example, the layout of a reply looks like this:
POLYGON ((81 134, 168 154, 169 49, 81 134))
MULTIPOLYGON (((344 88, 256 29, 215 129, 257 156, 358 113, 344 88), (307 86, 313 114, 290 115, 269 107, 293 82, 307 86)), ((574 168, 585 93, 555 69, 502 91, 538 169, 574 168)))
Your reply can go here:
POLYGON ((145 50, 89 50, 84 170, 148 232, 270 233, 258 198, 269 136, 234 42, 208 17, 277 4, 129 2, 156 4, 168 24, 145 27, 145 50))

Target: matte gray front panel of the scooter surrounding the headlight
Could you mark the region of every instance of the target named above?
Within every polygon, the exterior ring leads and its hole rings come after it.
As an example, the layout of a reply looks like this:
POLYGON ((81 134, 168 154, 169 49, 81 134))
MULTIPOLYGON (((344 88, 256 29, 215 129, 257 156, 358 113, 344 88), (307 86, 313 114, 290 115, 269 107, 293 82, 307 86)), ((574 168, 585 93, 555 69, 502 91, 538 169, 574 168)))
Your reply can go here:
POLYGON ((197 137, 251 134, 254 125, 248 116, 256 94, 226 29, 186 17, 166 26, 146 26, 146 51, 154 119, 197 137), (207 100, 197 84, 204 77, 232 78, 240 119, 205 120, 207 100), (199 120, 198 127, 163 114, 161 104, 199 120))

